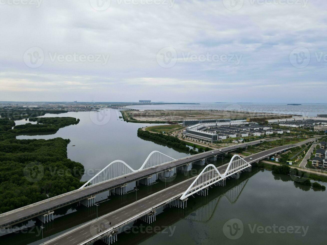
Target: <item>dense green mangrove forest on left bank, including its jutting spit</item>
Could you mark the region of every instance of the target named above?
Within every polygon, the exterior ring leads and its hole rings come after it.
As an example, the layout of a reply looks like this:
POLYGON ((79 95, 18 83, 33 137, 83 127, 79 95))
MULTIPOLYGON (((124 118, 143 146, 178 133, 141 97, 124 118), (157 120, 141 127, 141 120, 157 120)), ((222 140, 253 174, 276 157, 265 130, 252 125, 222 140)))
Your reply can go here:
MULTIPOLYGON (((28 124, 48 128, 54 125, 59 129, 68 123, 78 123, 79 120, 73 119, 45 118, 40 122, 46 124, 28 124)), ((0 213, 42 201, 47 193, 56 196, 83 184, 80 182, 83 165, 67 158, 69 139, 16 139, 13 126, 13 120, 0 119, 0 213)), ((42 127, 33 129, 44 132, 42 127)))

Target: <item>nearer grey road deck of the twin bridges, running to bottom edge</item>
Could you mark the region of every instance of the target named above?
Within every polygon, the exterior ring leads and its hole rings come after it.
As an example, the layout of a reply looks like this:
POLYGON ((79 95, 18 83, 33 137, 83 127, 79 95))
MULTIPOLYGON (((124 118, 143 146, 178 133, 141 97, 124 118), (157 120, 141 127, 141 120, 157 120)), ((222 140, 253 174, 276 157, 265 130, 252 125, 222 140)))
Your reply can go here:
MULTIPOLYGON (((304 144, 309 141, 310 139, 301 142, 301 144, 304 144)), ((269 149, 245 157, 244 160, 246 160, 249 163, 255 162, 265 158, 267 155, 273 155, 276 152, 287 150, 301 144, 297 143, 297 144, 290 144, 286 146, 276 147, 273 149, 269 149)), ((220 173, 224 173, 227 169, 227 166, 228 164, 225 164, 221 167, 218 167, 217 169, 220 173)), ((80 227, 73 229, 72 231, 60 235, 59 237, 55 237, 50 241, 46 241, 44 244, 49 244, 49 245, 81 244, 87 239, 90 239, 96 236, 97 234, 104 232, 105 230, 117 229, 125 225, 126 222, 130 222, 129 219, 140 215, 144 215, 144 213, 149 209, 155 209, 163 205, 163 203, 166 203, 169 200, 181 197, 181 195, 187 190, 187 188, 192 184, 192 182, 196 177, 197 176, 192 177, 172 187, 154 193, 138 201, 137 203, 129 204, 121 209, 118 209, 107 215, 99 217, 99 219, 90 221, 80 227), (109 222, 111 222, 111 225, 109 225, 109 222), (101 228, 101 231, 99 231, 100 229, 99 227, 101 228)))

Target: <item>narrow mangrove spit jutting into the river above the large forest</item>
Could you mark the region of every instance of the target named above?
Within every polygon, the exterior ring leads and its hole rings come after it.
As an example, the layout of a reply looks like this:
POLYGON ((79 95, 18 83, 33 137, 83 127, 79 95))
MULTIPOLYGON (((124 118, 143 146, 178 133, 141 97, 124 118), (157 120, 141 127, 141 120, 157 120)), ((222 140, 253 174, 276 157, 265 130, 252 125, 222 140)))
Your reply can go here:
POLYGON ((73 117, 30 118, 29 121, 38 123, 17 125, 14 129, 10 129, 9 132, 15 134, 57 132, 60 128, 79 123, 79 119, 76 120, 73 117))

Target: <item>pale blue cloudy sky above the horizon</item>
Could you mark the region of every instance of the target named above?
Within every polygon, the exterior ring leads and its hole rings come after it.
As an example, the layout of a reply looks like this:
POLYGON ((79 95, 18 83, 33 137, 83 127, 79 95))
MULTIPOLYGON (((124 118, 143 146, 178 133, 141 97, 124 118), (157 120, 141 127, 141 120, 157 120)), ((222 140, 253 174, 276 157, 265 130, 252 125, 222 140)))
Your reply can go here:
POLYGON ((327 102, 326 0, 0 0, 0 101, 327 102))

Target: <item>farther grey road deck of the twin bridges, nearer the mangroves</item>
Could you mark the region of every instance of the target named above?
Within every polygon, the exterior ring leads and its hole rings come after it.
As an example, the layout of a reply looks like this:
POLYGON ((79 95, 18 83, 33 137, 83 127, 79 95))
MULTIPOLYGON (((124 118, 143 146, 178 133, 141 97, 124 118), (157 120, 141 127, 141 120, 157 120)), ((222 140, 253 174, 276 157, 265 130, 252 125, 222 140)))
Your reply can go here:
POLYGON ((16 209, 16 210, 13 210, 13 211, 10 211, 7 213, 0 214, 0 227, 8 227, 15 223, 31 219, 40 214, 44 214, 48 211, 53 211, 62 206, 78 202, 79 200, 83 200, 87 197, 90 197, 90 196, 100 193, 102 191, 123 186, 126 183, 133 182, 138 179, 146 178, 148 176, 154 175, 156 173, 162 172, 162 171, 170 169, 170 168, 175 168, 175 167, 178 167, 181 165, 185 165, 189 162, 201 160, 203 158, 214 156, 217 154, 227 153, 227 152, 236 150, 237 148, 255 145, 255 144, 260 143, 260 141, 273 141, 273 140, 276 140, 276 139, 257 140, 257 141, 252 141, 252 142, 248 142, 248 143, 238 144, 235 146, 224 147, 224 148, 220 149, 221 152, 219 150, 213 150, 213 151, 193 155, 190 157, 184 157, 184 158, 177 159, 172 162, 160 165, 160 166, 156 167, 156 169, 146 169, 146 170, 143 170, 140 172, 125 175, 125 177, 122 176, 120 178, 106 181, 106 182, 103 182, 103 183, 100 183, 97 185, 89 186, 89 187, 86 187, 83 189, 78 189, 78 190, 74 190, 74 191, 62 194, 60 196, 52 197, 52 198, 49 198, 48 200, 44 200, 44 201, 41 201, 36 204, 31 204, 31 205, 28 205, 28 206, 25 206, 25 207, 22 207, 22 208, 19 208, 19 209, 16 209))

